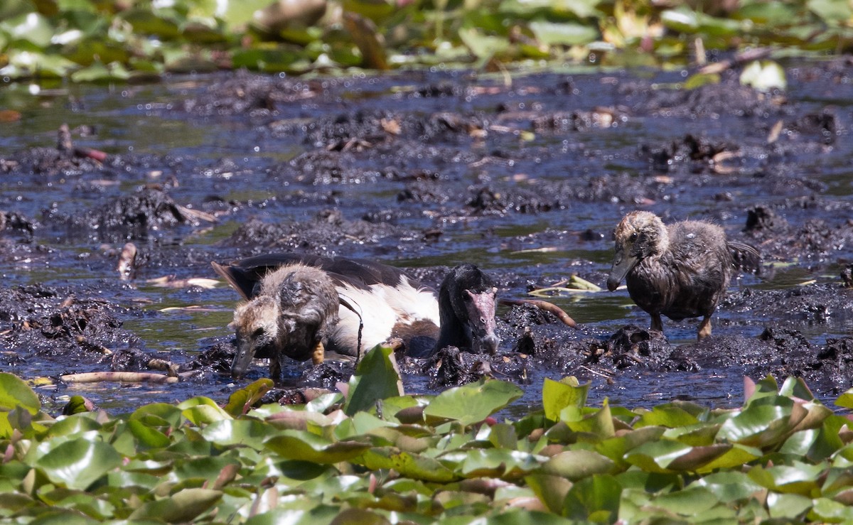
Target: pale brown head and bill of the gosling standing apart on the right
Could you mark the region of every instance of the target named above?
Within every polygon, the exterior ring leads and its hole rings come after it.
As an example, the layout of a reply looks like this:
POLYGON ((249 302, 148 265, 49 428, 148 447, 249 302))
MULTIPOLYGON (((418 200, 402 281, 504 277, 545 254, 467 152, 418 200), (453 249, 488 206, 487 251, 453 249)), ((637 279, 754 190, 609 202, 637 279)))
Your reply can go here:
POLYGON ((663 253, 670 243, 664 222, 649 211, 632 211, 624 216, 614 236, 613 266, 607 277, 607 289, 610 291, 616 290, 637 263, 663 253))

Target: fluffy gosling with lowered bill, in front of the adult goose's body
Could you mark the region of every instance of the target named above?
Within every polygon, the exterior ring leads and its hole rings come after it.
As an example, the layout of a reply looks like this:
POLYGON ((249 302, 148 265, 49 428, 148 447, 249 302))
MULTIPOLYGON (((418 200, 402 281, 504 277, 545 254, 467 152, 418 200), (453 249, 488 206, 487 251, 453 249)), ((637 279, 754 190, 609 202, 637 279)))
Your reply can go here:
MULTIPOLYGON (((241 290, 235 285, 240 268, 214 268, 241 290)), ((322 361, 322 337, 338 322, 338 292, 328 274, 301 264, 278 268, 265 274, 247 299, 235 309, 232 323, 237 338, 233 377, 246 373, 256 357, 270 358, 274 376, 281 355, 322 361)))

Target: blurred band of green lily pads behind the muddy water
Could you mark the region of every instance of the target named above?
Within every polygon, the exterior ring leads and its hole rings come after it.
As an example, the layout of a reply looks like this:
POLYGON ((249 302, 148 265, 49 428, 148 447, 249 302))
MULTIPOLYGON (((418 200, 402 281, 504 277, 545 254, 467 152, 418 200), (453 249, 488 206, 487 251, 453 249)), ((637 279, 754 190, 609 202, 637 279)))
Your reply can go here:
POLYGON ((850 49, 838 0, 4 0, 0 76, 115 82, 246 67, 683 64, 703 49, 850 49))

